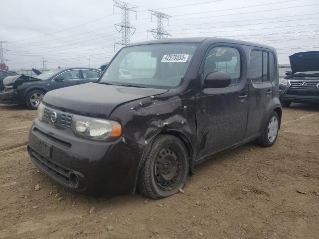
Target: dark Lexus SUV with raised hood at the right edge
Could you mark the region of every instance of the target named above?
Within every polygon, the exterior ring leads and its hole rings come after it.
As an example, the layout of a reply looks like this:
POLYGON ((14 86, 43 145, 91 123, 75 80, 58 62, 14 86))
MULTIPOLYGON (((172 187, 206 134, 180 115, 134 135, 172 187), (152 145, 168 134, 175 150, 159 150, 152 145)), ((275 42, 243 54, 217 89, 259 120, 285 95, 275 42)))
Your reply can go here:
POLYGON ((282 106, 319 103, 319 51, 295 53, 289 59, 292 71, 286 71, 279 85, 282 106))

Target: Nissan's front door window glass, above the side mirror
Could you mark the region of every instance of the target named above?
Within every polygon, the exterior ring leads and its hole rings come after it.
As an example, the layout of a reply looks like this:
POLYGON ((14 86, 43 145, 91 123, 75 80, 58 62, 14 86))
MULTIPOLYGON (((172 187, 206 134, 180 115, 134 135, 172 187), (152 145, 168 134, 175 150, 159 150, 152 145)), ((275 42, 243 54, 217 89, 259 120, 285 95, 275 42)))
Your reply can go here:
POLYGON ((212 72, 223 71, 231 76, 231 84, 236 85, 240 81, 240 53, 233 47, 214 47, 205 58, 203 79, 212 72))

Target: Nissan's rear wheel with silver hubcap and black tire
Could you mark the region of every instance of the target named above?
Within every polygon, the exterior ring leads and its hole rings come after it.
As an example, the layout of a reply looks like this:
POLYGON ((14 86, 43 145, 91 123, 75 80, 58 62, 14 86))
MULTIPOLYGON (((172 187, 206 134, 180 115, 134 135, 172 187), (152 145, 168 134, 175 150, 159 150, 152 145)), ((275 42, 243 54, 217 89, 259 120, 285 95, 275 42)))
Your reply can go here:
POLYGON ((277 112, 273 111, 267 120, 267 124, 263 131, 263 134, 256 139, 256 142, 264 147, 272 146, 277 139, 278 131, 280 127, 280 119, 277 112))

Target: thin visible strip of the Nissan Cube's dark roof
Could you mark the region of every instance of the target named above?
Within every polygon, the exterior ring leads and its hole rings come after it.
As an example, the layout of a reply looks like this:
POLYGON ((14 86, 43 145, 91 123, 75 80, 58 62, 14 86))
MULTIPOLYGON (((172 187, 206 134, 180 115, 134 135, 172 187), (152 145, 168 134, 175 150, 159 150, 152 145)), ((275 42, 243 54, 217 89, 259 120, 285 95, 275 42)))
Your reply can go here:
POLYGON ((272 49, 272 50, 276 51, 275 48, 273 48, 271 46, 267 46, 267 45, 262 45, 262 44, 253 43, 253 42, 249 42, 249 41, 219 38, 219 37, 166 38, 166 39, 160 39, 160 40, 150 40, 150 41, 137 42, 137 43, 130 44, 129 46, 160 44, 160 43, 202 43, 204 41, 209 41, 211 44, 227 42, 227 43, 234 43, 234 44, 241 44, 241 45, 249 45, 249 46, 268 48, 268 49, 272 49))

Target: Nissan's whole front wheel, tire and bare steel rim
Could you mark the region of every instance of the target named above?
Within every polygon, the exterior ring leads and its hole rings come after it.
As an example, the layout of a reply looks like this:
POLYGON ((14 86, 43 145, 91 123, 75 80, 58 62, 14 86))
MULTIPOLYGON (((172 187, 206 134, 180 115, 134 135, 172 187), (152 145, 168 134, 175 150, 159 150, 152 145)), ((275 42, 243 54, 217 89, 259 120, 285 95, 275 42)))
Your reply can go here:
POLYGON ((139 172, 138 189, 147 198, 169 197, 183 188, 188 170, 188 153, 183 142, 172 135, 160 135, 139 172))

